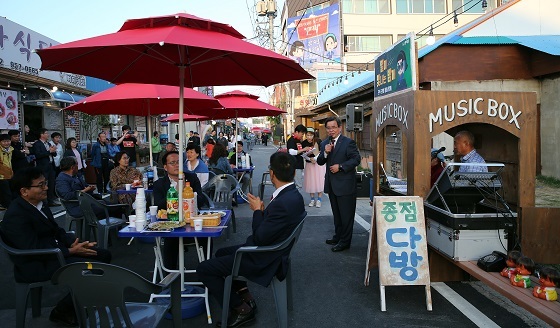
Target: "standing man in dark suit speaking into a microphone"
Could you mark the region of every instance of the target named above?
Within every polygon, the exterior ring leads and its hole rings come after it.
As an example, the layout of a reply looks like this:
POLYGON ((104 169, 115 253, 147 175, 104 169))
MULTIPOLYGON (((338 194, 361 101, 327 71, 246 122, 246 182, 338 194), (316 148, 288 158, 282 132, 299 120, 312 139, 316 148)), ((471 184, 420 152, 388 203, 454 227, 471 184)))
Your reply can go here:
POLYGON ((329 137, 321 143, 317 164, 327 164, 325 193, 329 195, 334 218, 334 236, 326 243, 331 250, 340 252, 350 248, 354 215, 356 213, 356 166, 360 153, 354 140, 341 134, 342 123, 338 117, 325 121, 329 137))

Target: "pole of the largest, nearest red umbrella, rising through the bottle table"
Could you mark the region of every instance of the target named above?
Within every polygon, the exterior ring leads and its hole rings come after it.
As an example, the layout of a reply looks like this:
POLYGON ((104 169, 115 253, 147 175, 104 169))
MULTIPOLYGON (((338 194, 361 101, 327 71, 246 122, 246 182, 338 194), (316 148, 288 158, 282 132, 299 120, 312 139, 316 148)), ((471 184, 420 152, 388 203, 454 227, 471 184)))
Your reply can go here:
MULTIPOLYGON (((181 50, 184 51, 184 48, 181 47, 181 50)), ((185 87, 185 66, 179 66, 179 181, 177 186, 179 190, 179 222, 183 222, 183 185, 184 185, 184 177, 183 177, 183 144, 185 139, 185 127, 183 121, 183 89, 185 87)), ((182 238, 179 240, 179 247, 183 249, 182 245, 182 238)), ((179 269, 183 270, 185 267, 185 257, 183 256, 182 252, 179 254, 179 269)), ((185 290, 185 276, 181 274, 181 290, 185 290)))

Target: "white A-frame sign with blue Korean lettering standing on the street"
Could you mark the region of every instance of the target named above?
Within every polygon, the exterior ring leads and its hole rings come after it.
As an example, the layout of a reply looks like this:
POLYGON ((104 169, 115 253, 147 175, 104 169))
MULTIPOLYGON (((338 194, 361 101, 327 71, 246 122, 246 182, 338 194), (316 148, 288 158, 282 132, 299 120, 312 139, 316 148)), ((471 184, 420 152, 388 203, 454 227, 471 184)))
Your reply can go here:
MULTIPOLYGON (((424 205, 418 196, 374 199, 381 310, 386 310, 385 286, 425 285, 432 310, 424 205)), ((372 225, 373 226, 373 225, 372 225)))

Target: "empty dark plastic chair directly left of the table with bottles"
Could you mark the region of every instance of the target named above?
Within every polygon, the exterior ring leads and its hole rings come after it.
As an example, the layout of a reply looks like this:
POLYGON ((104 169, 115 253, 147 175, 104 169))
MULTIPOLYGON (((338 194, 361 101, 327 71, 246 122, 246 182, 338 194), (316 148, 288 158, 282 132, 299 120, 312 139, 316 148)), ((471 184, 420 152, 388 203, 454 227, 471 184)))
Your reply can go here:
POLYGON ((84 239, 89 240, 89 232, 90 228, 97 229, 97 244, 101 248, 107 248, 107 244, 109 241, 109 230, 111 228, 118 229, 119 227, 126 224, 126 220, 122 218, 114 218, 109 215, 110 208, 123 208, 128 209, 128 204, 114 204, 108 205, 103 202, 97 201, 91 195, 79 192, 78 193, 78 201, 80 203, 80 209, 84 213, 84 217, 86 218, 86 228, 84 233, 84 239), (97 215, 93 211, 92 206, 96 206, 102 208, 105 211, 105 219, 98 219, 97 215))

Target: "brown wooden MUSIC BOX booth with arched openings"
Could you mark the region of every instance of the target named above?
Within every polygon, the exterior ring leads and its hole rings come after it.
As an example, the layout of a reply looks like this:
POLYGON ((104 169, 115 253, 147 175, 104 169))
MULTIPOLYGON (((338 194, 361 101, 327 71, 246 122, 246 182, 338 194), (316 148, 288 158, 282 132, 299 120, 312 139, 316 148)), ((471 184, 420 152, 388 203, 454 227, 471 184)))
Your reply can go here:
MULTIPOLYGON (((520 226, 520 209, 534 206, 535 93, 409 90, 376 99, 373 119, 373 163, 374 168, 377 167, 374 171, 378 172, 374 181, 376 194, 426 199, 431 189, 430 152, 432 146, 438 147, 432 145, 432 138, 441 133, 453 137, 467 130, 475 136, 475 148, 487 163, 503 164, 501 196, 506 206, 518 214, 517 227, 520 226), (388 147, 396 141, 400 147, 388 147), (395 149, 400 151, 402 160, 393 182, 400 181, 404 186, 385 188, 389 177, 384 177, 387 175, 384 171, 395 172, 388 160, 395 155, 395 149), (383 168, 380 163, 384 164, 383 168)), ((428 212, 426 219, 429 220, 428 212)), ((463 272, 452 259, 433 248, 430 250, 430 275, 432 281, 463 278, 463 272)))

